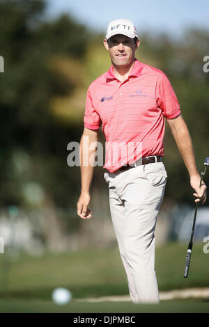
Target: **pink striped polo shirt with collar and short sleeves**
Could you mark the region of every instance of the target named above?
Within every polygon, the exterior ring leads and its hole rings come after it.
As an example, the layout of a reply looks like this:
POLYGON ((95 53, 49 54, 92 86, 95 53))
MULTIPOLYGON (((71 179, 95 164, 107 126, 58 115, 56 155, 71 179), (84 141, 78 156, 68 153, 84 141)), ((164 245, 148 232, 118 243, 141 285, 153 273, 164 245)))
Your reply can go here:
POLYGON ((114 173, 141 157, 164 155, 164 117, 180 114, 180 104, 167 75, 134 61, 121 83, 113 66, 88 88, 84 127, 99 129, 106 139, 103 168, 114 173))

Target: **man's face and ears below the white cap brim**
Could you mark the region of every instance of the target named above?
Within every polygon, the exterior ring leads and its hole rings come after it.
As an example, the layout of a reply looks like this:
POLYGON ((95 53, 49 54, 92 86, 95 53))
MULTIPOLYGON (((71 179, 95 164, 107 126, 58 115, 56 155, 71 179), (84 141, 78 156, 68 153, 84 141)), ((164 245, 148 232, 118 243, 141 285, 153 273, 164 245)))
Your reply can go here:
POLYGON ((109 51, 113 65, 128 67, 132 65, 135 58, 135 51, 139 47, 139 40, 128 38, 125 35, 113 35, 109 40, 104 40, 104 47, 109 51))

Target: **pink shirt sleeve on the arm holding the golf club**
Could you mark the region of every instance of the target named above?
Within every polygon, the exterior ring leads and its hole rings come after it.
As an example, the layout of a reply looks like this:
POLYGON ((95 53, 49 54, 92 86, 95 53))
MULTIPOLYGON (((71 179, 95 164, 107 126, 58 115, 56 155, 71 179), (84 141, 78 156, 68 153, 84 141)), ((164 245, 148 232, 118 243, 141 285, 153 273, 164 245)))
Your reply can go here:
POLYGON ((156 101, 167 119, 180 115, 180 104, 166 74, 163 74, 162 79, 157 82, 156 101))

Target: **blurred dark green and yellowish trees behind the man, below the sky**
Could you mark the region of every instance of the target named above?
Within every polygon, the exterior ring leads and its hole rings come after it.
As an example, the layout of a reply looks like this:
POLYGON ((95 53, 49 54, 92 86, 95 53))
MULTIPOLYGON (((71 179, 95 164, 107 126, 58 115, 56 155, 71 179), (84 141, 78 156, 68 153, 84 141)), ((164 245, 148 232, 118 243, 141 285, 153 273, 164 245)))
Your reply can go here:
MULTIPOLYGON (((68 167, 67 145, 82 136, 89 83, 110 65, 103 35, 69 15, 46 21, 42 0, 1 0, 0 30, 5 61, 0 75, 0 205, 30 207, 24 190, 32 183, 54 206, 75 208, 79 168, 68 167)), ((190 29, 180 40, 166 34, 140 38, 137 58, 169 77, 202 171, 209 156, 209 74, 203 72, 208 31, 190 29)), ((104 143, 102 133, 100 141, 104 143)), ((192 204, 189 176, 168 125, 164 148, 169 175, 165 199, 192 204)), ((93 186, 103 186, 102 167, 95 168, 93 186)))

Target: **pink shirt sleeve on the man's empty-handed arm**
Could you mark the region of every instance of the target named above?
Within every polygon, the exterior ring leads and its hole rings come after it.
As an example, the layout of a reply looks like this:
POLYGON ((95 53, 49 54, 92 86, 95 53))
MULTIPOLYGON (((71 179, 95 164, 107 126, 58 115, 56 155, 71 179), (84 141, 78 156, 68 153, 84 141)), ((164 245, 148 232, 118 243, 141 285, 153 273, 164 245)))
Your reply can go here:
POLYGON ((86 95, 86 109, 84 113, 84 127, 87 127, 88 129, 99 129, 101 125, 102 121, 100 115, 95 111, 91 92, 88 88, 86 95))

